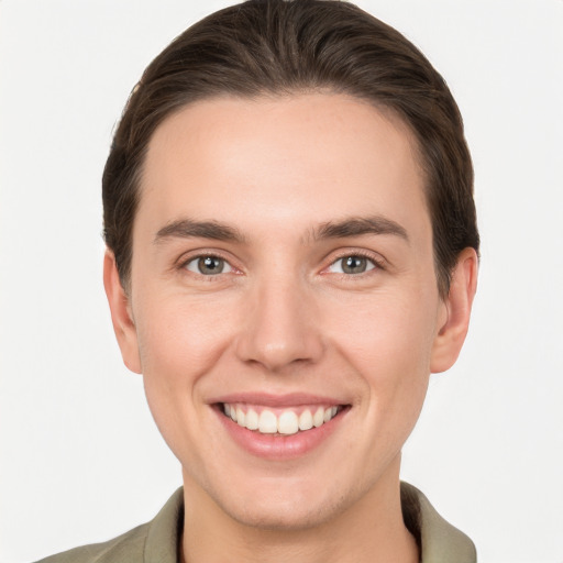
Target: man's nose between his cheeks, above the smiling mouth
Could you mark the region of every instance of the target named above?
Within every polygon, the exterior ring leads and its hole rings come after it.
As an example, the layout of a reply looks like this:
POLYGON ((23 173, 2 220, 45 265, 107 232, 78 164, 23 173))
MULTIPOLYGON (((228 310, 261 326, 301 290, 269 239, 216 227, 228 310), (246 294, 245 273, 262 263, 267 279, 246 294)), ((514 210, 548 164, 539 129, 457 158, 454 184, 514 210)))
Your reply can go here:
POLYGON ((316 302, 295 279, 262 283, 251 296, 236 341, 239 357, 280 373, 298 364, 312 364, 323 353, 316 302))

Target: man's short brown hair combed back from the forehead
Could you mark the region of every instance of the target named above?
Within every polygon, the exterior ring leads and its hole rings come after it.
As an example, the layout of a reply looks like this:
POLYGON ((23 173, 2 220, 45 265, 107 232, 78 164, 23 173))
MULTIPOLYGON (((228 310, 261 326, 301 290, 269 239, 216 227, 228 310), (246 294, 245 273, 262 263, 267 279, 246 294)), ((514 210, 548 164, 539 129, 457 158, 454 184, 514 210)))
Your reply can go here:
POLYGON ((102 180, 104 238, 123 287, 148 142, 196 100, 302 91, 355 96, 395 112, 415 133, 426 173, 440 295, 459 253, 478 252, 473 167, 457 106, 442 77, 399 32, 349 2, 250 0, 196 23, 133 89, 102 180))

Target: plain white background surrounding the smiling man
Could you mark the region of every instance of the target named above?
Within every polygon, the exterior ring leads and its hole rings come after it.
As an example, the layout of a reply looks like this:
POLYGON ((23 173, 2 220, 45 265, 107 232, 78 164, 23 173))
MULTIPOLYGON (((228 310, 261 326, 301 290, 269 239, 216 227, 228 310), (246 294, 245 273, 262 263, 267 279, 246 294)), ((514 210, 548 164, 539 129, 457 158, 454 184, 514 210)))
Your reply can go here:
MULTIPOLYGON (((563 1, 365 0, 444 75, 476 168, 483 261, 457 365, 404 478, 479 561, 563 562, 563 1)), ((106 540, 180 484, 101 284, 100 176, 144 66, 225 5, 0 1, 0 561, 106 540)))

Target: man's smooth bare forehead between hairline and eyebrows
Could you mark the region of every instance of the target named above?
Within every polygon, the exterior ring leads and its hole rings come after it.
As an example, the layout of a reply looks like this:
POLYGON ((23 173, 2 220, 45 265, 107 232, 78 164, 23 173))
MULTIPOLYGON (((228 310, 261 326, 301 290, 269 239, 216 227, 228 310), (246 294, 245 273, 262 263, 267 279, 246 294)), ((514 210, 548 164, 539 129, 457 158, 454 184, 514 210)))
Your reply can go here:
POLYGON ((188 214, 305 230, 365 212, 428 222, 417 144, 398 118, 342 95, 217 98, 155 131, 135 223, 188 214))

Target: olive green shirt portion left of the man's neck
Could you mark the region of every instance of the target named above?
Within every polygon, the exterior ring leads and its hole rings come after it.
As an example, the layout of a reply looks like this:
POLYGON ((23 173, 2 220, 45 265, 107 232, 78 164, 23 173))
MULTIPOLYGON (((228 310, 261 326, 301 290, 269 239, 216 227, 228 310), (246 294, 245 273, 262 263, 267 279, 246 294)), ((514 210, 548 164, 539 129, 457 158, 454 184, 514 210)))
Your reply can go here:
POLYGON ((184 495, 179 488, 156 517, 112 540, 75 548, 37 563, 135 563, 155 560, 176 563, 184 521, 184 495))

